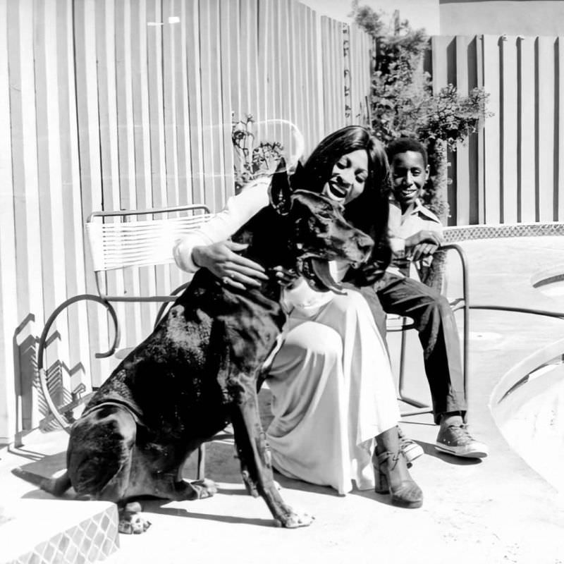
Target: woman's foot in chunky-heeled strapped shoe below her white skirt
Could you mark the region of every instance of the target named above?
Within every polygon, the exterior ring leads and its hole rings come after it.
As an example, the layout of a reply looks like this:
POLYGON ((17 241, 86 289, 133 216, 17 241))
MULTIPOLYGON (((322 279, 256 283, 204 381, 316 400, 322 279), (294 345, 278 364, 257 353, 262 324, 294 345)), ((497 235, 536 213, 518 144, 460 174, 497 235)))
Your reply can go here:
POLYGON ((421 507, 423 492, 407 470, 407 461, 400 449, 397 427, 392 427, 376 436, 372 464, 376 494, 389 492, 393 505, 405 508, 421 507))

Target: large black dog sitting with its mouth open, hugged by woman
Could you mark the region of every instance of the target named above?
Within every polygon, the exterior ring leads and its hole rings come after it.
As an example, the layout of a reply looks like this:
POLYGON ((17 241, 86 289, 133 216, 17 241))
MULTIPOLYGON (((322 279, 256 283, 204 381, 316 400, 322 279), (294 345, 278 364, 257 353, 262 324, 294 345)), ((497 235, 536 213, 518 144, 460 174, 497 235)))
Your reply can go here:
POLYGON ((215 493, 211 480, 182 479, 182 468, 231 422, 247 491, 262 496, 283 527, 310 524, 312 517, 290 508, 276 487, 259 419, 261 368, 286 320, 272 269, 295 269, 314 288, 339 291, 327 262, 360 264, 373 242, 343 219, 335 202, 307 190, 291 192, 283 169, 274 174, 269 195, 270 205, 233 237, 249 243, 245 256, 272 273, 269 280, 240 291, 200 269, 73 424, 65 474, 54 479, 15 469, 16 475, 56 496, 72 486, 82 498, 114 501, 121 532, 142 532, 149 523, 137 515, 141 508, 129 503, 133 499, 194 500, 215 493))

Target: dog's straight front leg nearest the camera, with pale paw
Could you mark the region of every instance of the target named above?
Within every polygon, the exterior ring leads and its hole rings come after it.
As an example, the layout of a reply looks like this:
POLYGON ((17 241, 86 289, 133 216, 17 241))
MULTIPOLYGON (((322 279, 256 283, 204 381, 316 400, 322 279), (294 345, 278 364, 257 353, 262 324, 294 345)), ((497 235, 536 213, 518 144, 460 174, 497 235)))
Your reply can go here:
POLYGON ((233 407, 233 431, 241 462, 243 481, 252 495, 260 495, 283 527, 294 529, 311 525, 313 517, 298 513, 282 499, 272 474, 271 456, 266 434, 259 418, 259 405, 254 390, 233 407))

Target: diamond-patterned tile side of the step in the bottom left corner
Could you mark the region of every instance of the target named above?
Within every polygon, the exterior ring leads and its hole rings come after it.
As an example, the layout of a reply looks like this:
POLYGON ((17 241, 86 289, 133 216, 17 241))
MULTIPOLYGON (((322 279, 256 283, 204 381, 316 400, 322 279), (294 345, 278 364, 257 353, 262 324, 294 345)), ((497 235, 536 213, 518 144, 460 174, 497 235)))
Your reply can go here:
POLYGON ((74 527, 54 534, 5 564, 90 564, 106 560, 119 548, 118 510, 108 508, 74 527))

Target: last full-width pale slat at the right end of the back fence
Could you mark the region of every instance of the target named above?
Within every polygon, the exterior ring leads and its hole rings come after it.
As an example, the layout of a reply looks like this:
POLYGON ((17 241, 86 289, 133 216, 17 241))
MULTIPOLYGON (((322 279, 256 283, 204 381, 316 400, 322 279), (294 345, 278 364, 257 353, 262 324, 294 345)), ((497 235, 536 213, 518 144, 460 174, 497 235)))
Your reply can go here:
POLYGON ((537 37, 537 221, 554 206, 554 38, 537 37))

